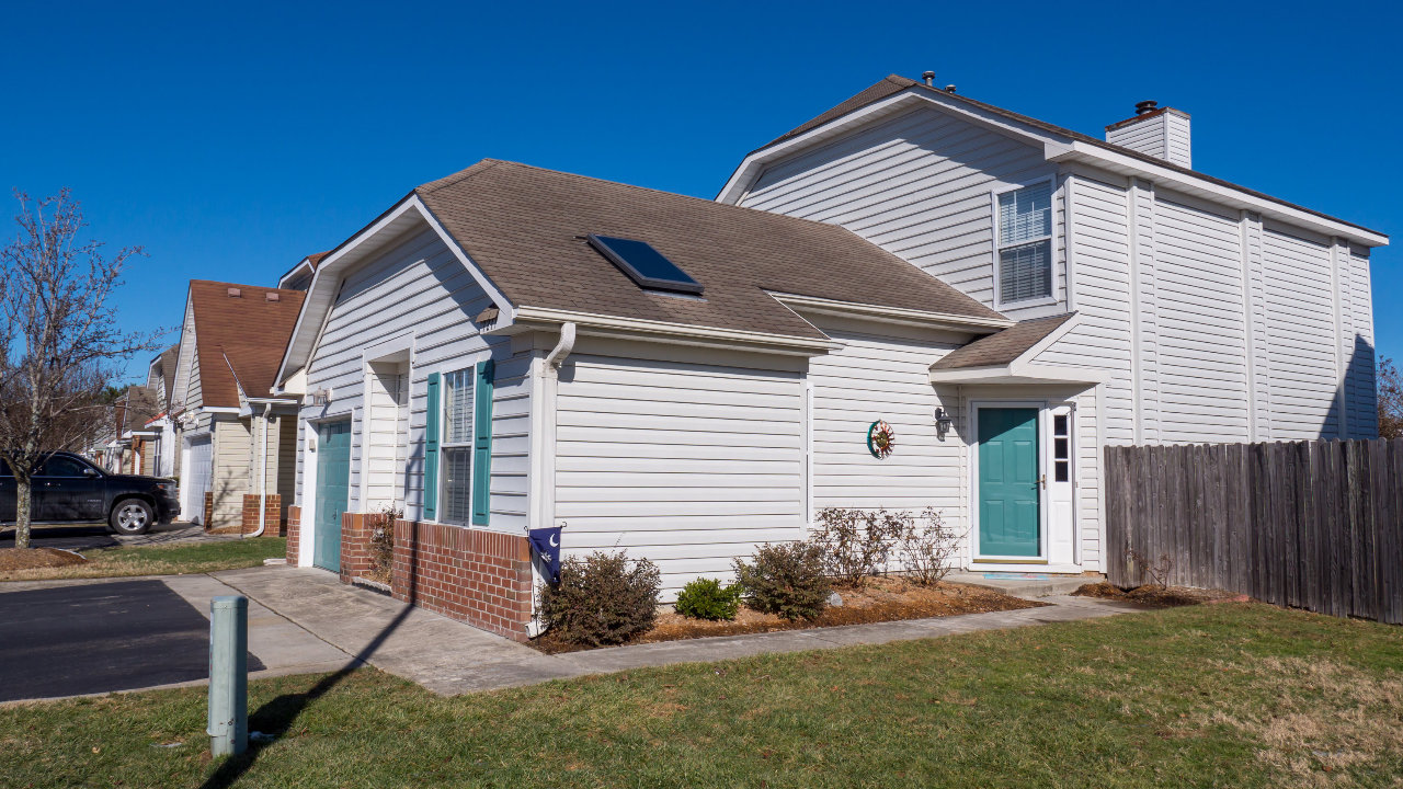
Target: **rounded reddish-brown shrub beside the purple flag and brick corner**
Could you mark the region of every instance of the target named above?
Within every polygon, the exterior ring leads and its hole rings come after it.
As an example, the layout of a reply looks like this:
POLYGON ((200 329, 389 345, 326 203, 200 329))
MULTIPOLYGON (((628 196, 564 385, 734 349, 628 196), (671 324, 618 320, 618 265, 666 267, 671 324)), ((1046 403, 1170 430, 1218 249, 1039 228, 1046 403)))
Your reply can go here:
POLYGON ((542 615, 574 644, 619 644, 652 628, 662 574, 647 559, 595 552, 560 566, 560 583, 546 587, 542 615))

